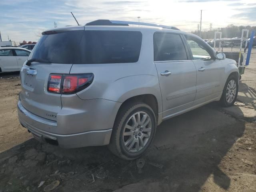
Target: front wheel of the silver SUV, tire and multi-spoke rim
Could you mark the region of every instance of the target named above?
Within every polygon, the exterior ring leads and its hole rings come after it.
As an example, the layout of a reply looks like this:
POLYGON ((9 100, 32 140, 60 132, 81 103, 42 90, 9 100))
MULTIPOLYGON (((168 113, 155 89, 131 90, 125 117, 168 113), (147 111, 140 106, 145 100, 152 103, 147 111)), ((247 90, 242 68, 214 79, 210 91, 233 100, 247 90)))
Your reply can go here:
POLYGON ((224 86, 220 103, 223 107, 230 107, 236 101, 238 94, 238 79, 235 76, 228 77, 224 86), (233 84, 234 83, 234 84, 233 84))

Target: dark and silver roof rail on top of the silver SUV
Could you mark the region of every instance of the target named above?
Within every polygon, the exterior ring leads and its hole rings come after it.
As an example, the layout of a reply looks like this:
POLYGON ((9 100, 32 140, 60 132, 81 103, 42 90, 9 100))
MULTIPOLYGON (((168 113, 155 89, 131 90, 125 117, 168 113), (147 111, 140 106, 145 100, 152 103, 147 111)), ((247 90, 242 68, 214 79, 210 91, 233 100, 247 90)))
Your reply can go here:
POLYGON ((118 20, 105 20, 99 19, 89 23, 86 23, 86 26, 93 26, 93 25, 114 25, 114 26, 129 26, 130 25, 144 25, 144 26, 153 26, 153 27, 161 27, 164 29, 174 29, 179 30, 176 27, 166 26, 166 25, 158 25, 153 23, 142 23, 142 22, 133 22, 133 21, 118 21, 118 20))

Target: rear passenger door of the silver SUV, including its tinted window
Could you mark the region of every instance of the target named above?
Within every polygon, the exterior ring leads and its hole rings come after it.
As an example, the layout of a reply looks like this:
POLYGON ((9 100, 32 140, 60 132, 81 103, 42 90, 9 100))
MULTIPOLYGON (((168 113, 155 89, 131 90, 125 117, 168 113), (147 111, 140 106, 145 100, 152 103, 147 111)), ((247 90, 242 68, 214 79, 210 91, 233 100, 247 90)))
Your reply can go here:
POLYGON ((184 44, 180 34, 154 34, 154 63, 166 118, 192 106, 196 96, 196 68, 184 44))

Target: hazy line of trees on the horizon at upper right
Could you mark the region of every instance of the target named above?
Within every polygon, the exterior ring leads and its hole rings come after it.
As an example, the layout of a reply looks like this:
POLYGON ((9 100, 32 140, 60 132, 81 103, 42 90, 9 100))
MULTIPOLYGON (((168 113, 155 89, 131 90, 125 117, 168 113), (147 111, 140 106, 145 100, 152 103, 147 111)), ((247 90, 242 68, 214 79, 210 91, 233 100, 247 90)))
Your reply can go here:
MULTIPOLYGON (((215 31, 222 32, 222 38, 240 37, 242 35, 242 29, 248 29, 249 30, 249 37, 250 37, 251 31, 256 30, 256 26, 250 26, 250 25, 248 25, 248 26, 235 26, 233 24, 230 24, 226 27, 216 28, 216 29, 208 30, 208 31, 202 31, 201 38, 202 39, 213 39, 215 31)), ((191 33, 200 36, 200 31, 199 30, 192 31, 191 33)), ((244 32, 244 36, 246 36, 245 32, 244 32)))

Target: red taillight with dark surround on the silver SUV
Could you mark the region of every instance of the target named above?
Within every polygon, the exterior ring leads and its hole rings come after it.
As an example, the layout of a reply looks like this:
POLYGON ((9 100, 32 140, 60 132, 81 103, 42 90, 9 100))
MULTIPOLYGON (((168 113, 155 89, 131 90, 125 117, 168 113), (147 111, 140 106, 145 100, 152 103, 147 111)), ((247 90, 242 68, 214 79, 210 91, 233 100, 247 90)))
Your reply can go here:
POLYGON ((50 74, 48 92, 73 94, 88 87, 93 81, 92 73, 86 74, 50 74))

